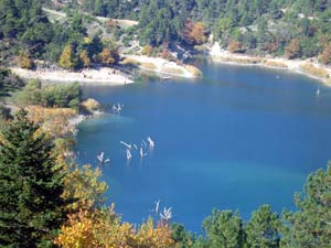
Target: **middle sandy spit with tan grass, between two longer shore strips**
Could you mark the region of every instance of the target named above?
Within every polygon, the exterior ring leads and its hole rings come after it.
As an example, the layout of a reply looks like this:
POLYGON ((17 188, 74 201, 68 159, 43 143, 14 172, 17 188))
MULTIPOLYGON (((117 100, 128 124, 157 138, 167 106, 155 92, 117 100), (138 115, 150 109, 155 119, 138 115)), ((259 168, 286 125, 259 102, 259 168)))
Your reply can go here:
POLYGON ((175 77, 196 78, 202 75, 201 71, 192 65, 178 65, 174 62, 161 57, 145 55, 124 55, 125 61, 136 64, 140 69, 175 77))

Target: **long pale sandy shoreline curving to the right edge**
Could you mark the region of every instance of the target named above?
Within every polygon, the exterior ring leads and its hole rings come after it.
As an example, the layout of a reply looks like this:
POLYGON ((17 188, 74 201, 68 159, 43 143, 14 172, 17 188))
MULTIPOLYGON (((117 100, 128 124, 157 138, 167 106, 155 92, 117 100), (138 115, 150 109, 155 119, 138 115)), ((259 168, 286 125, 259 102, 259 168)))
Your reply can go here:
POLYGON ((325 85, 331 86, 331 67, 318 63, 317 60, 287 60, 282 57, 258 57, 234 54, 222 50, 217 43, 211 47, 210 57, 212 61, 223 64, 286 69, 319 79, 325 85))

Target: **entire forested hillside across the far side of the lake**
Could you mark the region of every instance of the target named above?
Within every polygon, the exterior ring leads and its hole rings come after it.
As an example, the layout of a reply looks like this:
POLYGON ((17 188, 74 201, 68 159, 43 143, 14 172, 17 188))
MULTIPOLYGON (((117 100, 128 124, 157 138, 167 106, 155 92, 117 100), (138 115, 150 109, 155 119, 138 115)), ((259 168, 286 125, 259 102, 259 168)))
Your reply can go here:
POLYGON ((199 46, 217 41, 234 53, 319 57, 331 63, 331 3, 327 0, 63 2, 1 0, 1 63, 15 55, 26 68, 33 67, 31 58, 64 68, 107 65, 118 62, 118 46, 129 46, 135 39, 159 52, 172 44, 205 50, 199 46), (67 19, 50 21, 43 7, 57 8, 67 19), (90 33, 87 26, 99 22, 94 15, 137 20, 139 25, 122 30, 109 19, 104 30, 90 33))

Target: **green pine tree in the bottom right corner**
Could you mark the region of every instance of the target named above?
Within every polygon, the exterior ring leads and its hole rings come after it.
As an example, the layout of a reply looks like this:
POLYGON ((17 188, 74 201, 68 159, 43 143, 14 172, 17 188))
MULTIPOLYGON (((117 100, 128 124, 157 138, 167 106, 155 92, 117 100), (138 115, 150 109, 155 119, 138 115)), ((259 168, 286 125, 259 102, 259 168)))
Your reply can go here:
POLYGON ((303 194, 296 194, 299 211, 285 212, 282 248, 331 247, 331 162, 310 174, 303 194))

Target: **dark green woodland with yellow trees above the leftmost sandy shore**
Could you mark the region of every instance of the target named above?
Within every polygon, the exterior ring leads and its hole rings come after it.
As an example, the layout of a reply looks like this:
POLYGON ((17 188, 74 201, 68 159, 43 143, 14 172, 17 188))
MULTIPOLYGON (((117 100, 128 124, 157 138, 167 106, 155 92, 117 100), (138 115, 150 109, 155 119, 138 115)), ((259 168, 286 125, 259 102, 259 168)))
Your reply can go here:
POLYGON ((23 68, 33 68, 33 58, 68 69, 118 60, 115 45, 87 35, 83 14, 72 11, 64 23, 51 22, 42 7, 39 0, 0 1, 1 64, 12 63, 12 55, 23 68))

